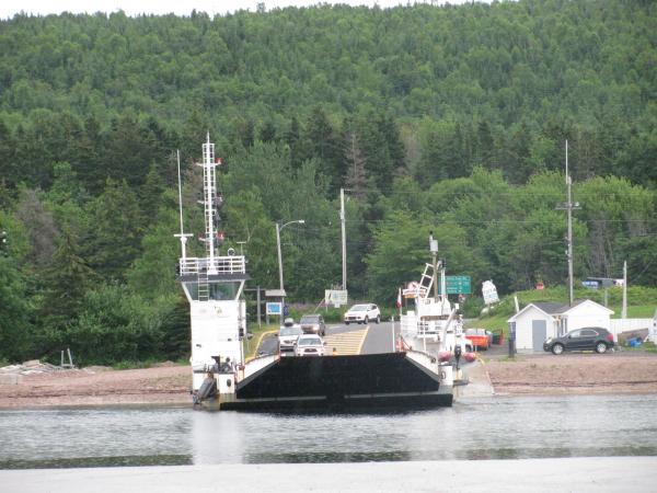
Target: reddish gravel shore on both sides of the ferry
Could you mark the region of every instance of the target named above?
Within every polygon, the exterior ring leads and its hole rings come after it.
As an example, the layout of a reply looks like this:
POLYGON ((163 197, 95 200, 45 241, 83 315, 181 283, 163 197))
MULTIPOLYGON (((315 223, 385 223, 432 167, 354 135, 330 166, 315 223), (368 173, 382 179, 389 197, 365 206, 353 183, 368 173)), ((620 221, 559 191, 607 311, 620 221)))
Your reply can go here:
MULTIPOLYGON (((657 354, 551 354, 510 360, 482 353, 497 394, 657 393, 657 354)), ((188 366, 112 370, 88 368, 21 376, 0 383, 0 409, 189 404, 188 366)))

